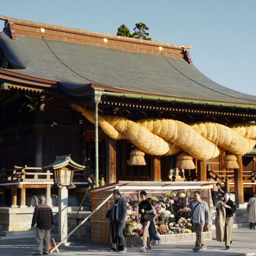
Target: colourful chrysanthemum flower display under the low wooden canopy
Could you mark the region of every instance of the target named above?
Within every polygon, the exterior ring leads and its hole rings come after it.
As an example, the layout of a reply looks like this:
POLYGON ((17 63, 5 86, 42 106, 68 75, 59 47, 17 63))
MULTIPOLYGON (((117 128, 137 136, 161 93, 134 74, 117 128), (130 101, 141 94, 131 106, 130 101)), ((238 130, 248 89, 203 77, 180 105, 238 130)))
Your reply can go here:
MULTIPOLYGON (((167 192, 151 196, 152 205, 157 212, 156 230, 158 235, 191 233, 191 209, 184 205, 184 193, 167 192)), ((125 197, 127 201, 127 222, 124 227, 125 237, 138 237, 143 234, 138 212, 136 195, 125 197)))

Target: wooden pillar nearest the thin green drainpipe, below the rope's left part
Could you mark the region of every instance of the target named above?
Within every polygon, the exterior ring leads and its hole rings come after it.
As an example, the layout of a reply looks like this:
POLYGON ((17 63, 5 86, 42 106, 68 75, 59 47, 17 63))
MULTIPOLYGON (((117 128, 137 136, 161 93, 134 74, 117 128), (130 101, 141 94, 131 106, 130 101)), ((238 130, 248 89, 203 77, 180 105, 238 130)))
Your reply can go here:
POLYGON ((117 163, 115 141, 109 137, 106 138, 106 182, 107 184, 117 181, 117 163))

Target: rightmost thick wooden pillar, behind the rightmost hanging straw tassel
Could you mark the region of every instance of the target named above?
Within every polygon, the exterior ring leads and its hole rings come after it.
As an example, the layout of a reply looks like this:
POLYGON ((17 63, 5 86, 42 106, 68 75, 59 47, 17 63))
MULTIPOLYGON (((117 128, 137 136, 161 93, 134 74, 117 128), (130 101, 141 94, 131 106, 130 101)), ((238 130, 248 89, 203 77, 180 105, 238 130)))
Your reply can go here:
POLYGON ((234 169, 235 174, 235 205, 244 204, 244 187, 242 184, 242 156, 237 156, 237 162, 239 169, 234 169))

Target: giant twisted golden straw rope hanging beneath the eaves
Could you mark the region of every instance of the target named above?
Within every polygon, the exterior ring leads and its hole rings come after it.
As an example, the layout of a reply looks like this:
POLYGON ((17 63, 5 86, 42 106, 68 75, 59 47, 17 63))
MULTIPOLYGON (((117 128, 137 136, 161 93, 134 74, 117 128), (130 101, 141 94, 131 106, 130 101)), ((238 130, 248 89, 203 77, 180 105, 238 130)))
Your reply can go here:
MULTIPOLYGON (((95 124, 94 111, 76 104, 71 107, 95 124)), ((213 122, 184 122, 146 118, 136 122, 122 117, 98 114, 102 131, 112 139, 128 139, 150 155, 173 155, 184 150, 198 160, 217 157, 227 150, 244 155, 255 145, 256 125, 238 124, 232 128, 213 122)))

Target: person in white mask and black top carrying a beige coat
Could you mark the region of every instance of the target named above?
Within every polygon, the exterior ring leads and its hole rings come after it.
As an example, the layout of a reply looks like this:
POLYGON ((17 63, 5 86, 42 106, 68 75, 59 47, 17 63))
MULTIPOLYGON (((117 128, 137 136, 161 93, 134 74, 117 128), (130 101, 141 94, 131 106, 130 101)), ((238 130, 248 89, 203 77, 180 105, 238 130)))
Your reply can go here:
POLYGON ((232 243, 232 228, 234 222, 234 213, 237 211, 235 204, 230 200, 230 192, 224 192, 224 200, 217 202, 217 217, 215 220, 216 240, 225 241, 225 250, 230 249, 232 243))

